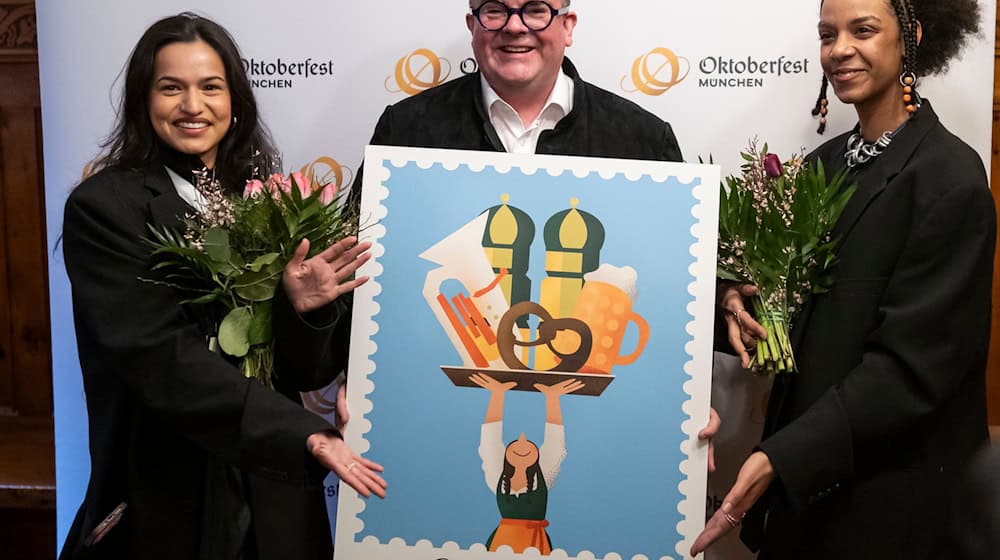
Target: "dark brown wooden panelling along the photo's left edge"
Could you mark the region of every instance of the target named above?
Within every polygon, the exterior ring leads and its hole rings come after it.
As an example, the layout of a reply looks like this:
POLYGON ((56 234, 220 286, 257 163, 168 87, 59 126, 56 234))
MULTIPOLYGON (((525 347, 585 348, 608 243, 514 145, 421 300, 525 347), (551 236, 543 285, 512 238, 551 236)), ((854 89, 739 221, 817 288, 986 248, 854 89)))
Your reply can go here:
POLYGON ((0 0, 0 417, 52 416, 38 35, 0 0))

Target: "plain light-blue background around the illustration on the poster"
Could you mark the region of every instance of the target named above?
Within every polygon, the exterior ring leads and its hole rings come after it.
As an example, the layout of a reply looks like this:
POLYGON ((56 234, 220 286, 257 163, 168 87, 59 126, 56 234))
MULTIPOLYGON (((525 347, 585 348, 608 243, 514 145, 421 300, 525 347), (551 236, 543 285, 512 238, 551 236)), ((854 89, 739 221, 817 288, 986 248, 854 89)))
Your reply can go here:
MULTIPOLYGON (((366 167, 375 172, 378 164, 369 161, 366 167)), ((369 536, 382 543, 401 538, 410 545, 427 539, 465 549, 485 543, 497 526, 496 496, 486 486, 477 453, 489 393, 456 387, 442 373, 441 365, 462 362, 421 293, 426 273, 437 265, 418 255, 508 194, 509 204, 535 222, 533 301, 545 277, 545 221, 578 198, 578 208, 605 227, 601 262, 638 271, 633 309, 651 331, 644 353, 613 370, 616 379, 603 395, 561 399, 567 457, 549 490, 553 549, 570 556, 590 551, 598 558, 611 552, 624 558, 674 555, 682 540, 677 505, 685 477, 678 466, 687 439, 681 407, 690 398, 682 385, 690 379, 685 344, 692 340, 685 329, 692 319, 689 267, 695 261, 691 228, 697 200, 691 191, 699 180, 382 164, 389 171, 383 183, 389 196, 382 201, 388 214, 381 220, 384 254, 377 257, 382 272, 374 279, 381 289, 374 297, 377 351, 369 356, 376 364, 368 377, 375 386, 368 395, 373 410, 366 415, 372 429, 364 437, 371 444, 366 456, 385 466, 390 487, 385 501, 366 502, 355 542, 369 536)), ((635 347, 635 330, 630 326, 623 353, 635 347)), ((351 359, 364 357, 352 353, 351 359)), ((523 431, 541 443, 544 423, 541 394, 507 393, 505 442, 523 431)))

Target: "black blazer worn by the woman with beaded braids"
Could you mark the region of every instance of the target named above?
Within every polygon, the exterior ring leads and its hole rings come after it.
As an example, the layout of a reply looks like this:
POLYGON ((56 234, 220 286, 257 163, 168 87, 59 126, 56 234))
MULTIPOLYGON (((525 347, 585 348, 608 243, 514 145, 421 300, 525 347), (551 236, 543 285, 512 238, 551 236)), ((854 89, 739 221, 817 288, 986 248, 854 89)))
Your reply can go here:
MULTIPOLYGON (((842 168, 847 136, 810 157, 842 168)), ((926 102, 853 178, 836 283, 794 327, 799 372, 776 379, 768 408, 777 479, 760 558, 949 557, 949 488, 988 440, 996 218, 982 161, 926 102)), ((760 525, 745 525, 756 544, 760 525)))

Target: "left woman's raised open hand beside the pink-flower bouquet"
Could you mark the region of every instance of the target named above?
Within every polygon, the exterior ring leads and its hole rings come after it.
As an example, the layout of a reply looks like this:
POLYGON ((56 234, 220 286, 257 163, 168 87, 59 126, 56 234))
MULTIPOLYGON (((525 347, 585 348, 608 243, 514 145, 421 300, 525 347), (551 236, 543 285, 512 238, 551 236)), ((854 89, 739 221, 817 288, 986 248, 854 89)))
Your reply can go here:
POLYGON ((282 276, 282 285, 295 311, 319 309, 367 282, 367 276, 353 277, 371 258, 371 253, 366 252, 369 248, 370 242, 358 243, 356 237, 348 237, 306 259, 309 240, 303 239, 282 276))

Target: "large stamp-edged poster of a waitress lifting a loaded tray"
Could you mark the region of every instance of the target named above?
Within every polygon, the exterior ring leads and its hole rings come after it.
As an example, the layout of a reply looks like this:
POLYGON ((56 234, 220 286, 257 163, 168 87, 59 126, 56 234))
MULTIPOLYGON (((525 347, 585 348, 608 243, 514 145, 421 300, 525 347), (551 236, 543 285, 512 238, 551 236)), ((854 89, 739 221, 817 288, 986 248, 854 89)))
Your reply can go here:
POLYGON ((370 147, 336 558, 686 557, 716 166, 370 147))

